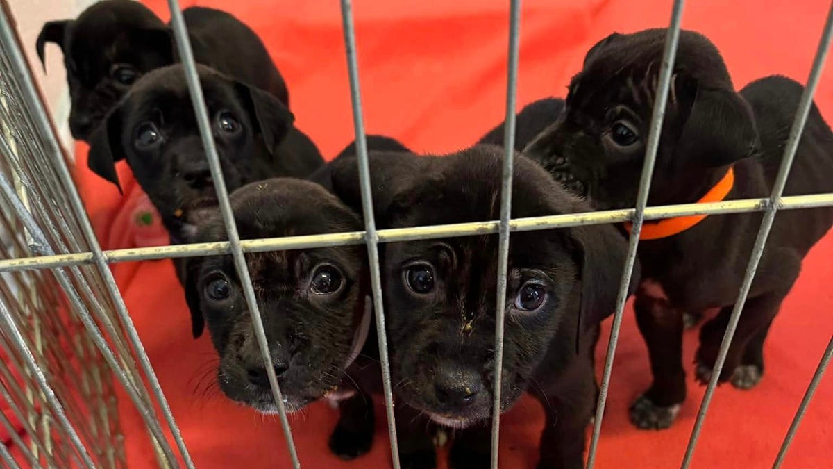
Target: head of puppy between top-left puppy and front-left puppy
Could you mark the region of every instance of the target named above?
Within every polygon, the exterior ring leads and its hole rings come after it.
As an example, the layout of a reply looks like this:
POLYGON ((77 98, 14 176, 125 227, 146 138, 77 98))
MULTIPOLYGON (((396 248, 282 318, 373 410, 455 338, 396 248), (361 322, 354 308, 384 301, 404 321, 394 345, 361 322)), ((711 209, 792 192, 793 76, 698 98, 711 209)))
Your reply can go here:
MULTIPOLYGON (((292 126, 292 113, 259 88, 197 68, 229 191, 266 179, 273 174, 272 149, 292 126)), ((193 235, 204 209, 217 205, 182 65, 140 78, 92 134, 93 172, 118 185, 120 159, 127 159, 175 238, 193 235)))

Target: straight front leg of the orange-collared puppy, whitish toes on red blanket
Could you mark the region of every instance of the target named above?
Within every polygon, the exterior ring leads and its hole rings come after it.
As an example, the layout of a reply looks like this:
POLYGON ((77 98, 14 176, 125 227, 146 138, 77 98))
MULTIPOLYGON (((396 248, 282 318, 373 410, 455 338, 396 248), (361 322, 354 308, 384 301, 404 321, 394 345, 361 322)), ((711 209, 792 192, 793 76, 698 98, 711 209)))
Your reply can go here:
POLYGON ((686 400, 686 372, 682 368, 681 311, 667 300, 637 295, 636 325, 645 339, 654 381, 631 405, 631 423, 642 429, 668 428, 686 400))

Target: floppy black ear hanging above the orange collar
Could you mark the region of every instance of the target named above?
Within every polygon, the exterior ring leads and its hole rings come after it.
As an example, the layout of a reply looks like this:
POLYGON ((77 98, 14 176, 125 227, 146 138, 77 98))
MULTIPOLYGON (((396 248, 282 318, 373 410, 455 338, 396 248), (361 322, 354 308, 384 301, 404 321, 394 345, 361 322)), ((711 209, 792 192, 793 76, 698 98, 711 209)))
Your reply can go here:
POLYGON ((755 115, 746 100, 731 88, 706 88, 695 79, 678 73, 674 78, 676 97, 685 117, 678 158, 725 166, 755 154, 761 145, 755 115))

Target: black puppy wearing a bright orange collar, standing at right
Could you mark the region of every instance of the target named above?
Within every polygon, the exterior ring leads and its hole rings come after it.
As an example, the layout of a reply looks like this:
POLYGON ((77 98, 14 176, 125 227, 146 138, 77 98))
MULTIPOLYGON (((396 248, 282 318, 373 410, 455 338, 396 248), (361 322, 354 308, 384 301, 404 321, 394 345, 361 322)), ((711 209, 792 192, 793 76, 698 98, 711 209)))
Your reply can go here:
MULTIPOLYGON (((600 209, 635 203, 665 37, 652 29, 597 43, 572 80, 561 118, 524 150, 552 173, 581 180, 600 209)), ((801 93, 799 83, 776 76, 736 93, 716 47, 683 31, 648 203, 768 196, 801 93)), ((784 194, 831 190, 833 134, 814 106, 784 194)), ((761 380, 771 322, 831 223, 829 208, 778 214, 721 381, 748 389, 761 380)), ((654 381, 631 406, 636 426, 674 421, 686 396, 682 316, 721 308, 703 325, 697 350, 696 377, 709 380, 760 224, 759 213, 646 222, 636 320, 654 381)))

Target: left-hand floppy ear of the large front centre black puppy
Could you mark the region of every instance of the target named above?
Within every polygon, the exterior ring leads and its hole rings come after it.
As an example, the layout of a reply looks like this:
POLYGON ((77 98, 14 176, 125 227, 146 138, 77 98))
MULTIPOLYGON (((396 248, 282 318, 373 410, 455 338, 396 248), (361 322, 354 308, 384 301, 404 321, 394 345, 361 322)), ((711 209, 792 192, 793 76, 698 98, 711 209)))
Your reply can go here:
MULTIPOLYGON (((379 224, 385 224, 388 213, 402 194, 408 194, 416 174, 420 174, 422 159, 402 152, 373 152, 368 154, 370 165, 373 214, 379 224)), ((311 177, 324 186, 351 209, 363 215, 362 186, 359 184, 358 159, 345 156, 335 159, 311 177)))

